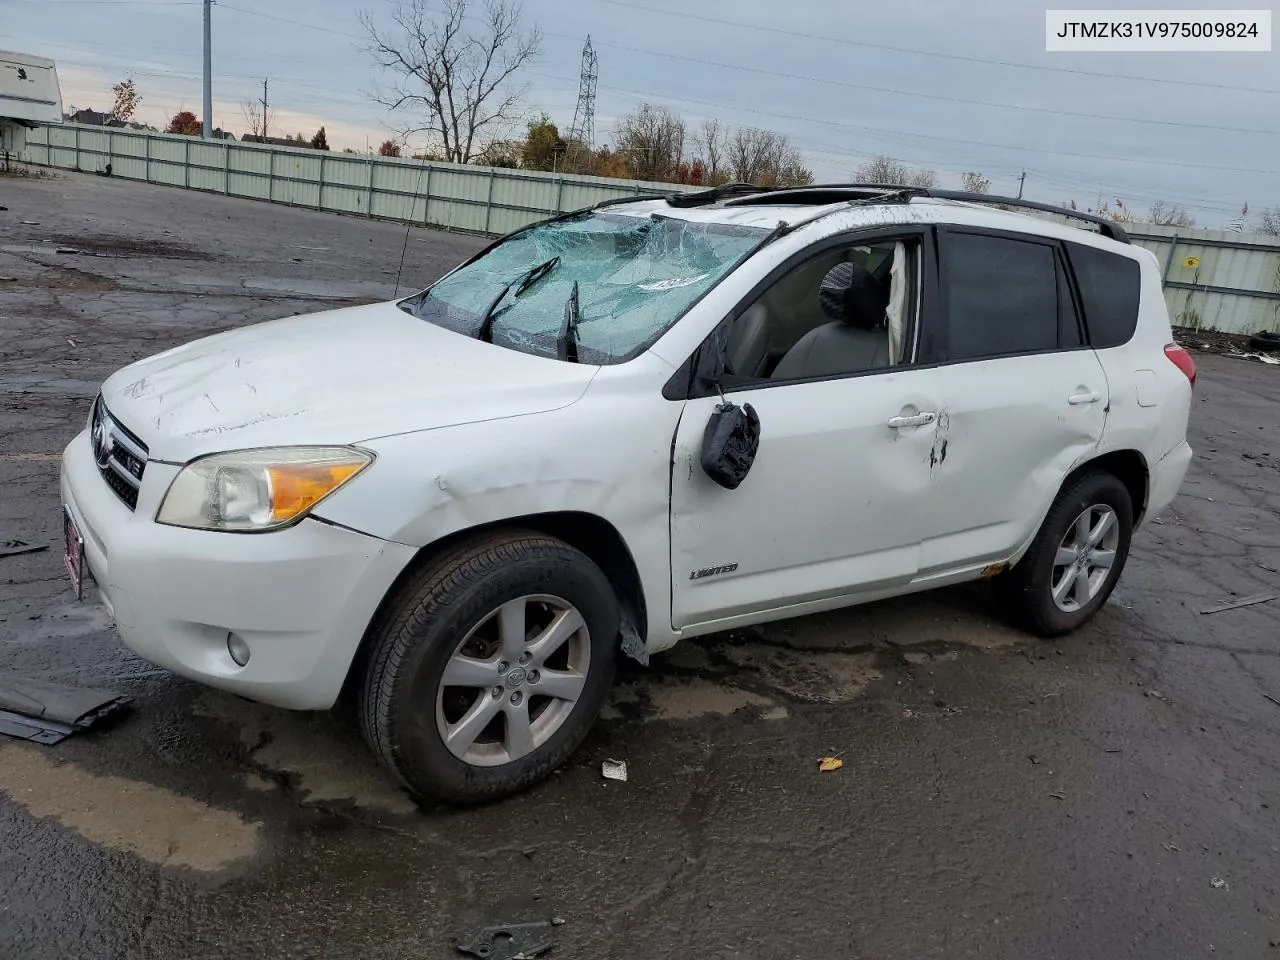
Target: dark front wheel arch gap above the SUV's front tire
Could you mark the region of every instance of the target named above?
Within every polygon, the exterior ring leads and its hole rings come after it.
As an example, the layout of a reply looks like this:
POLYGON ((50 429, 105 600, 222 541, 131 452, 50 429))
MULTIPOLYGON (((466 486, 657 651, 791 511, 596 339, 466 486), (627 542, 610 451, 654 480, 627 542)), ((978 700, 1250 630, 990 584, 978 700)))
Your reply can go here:
POLYGON ((648 664, 645 636, 649 628, 649 613, 644 598, 640 570, 636 566, 631 548, 618 529, 604 517, 585 511, 549 511, 529 513, 518 517, 503 517, 486 524, 463 527, 445 534, 420 548, 392 582, 370 618, 365 635, 360 640, 356 655, 347 669, 343 685, 344 696, 360 682, 364 673, 372 635, 381 623, 384 612, 402 590, 406 581, 442 553, 467 540, 481 539, 502 530, 532 530, 547 536, 563 540, 570 547, 581 550, 604 572, 613 585, 618 604, 622 607, 621 649, 632 659, 648 664))

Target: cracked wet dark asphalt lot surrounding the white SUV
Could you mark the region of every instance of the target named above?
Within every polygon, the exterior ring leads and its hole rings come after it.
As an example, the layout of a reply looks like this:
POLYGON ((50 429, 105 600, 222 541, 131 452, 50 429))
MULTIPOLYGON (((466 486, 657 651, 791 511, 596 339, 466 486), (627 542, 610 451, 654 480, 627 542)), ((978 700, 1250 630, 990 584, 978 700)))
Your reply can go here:
MULTIPOLYGON (((691 641, 545 785, 420 812, 342 712, 133 658, 58 553, 108 374, 387 298, 403 228, 74 174, 0 205, 0 541, 50 545, 0 558, 0 669, 136 698, 0 737, 4 960, 435 960, 511 895, 552 957, 1280 957, 1280 600, 1201 613, 1280 593, 1275 369, 1197 356, 1187 485, 1079 635, 972 586, 691 641)), ((411 232, 402 292, 479 246, 411 232)))

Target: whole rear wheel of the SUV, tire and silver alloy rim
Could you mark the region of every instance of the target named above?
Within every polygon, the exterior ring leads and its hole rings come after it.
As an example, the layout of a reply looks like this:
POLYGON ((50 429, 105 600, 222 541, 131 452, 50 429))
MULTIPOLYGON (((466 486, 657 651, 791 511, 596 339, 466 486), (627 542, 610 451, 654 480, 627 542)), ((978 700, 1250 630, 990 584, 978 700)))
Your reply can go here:
POLYGON ((1112 474, 1088 471, 1059 493, 1027 554, 1001 582, 1014 617, 1041 636, 1084 626, 1129 556, 1133 503, 1112 474))

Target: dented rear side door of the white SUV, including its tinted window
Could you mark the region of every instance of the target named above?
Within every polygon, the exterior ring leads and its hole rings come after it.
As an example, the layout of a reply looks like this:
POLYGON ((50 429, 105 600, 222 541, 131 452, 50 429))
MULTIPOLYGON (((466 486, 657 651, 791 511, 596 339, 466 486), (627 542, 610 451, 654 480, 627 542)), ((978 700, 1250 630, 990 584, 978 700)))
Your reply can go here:
POLYGON ((1107 379, 1085 344, 1061 244, 940 230, 943 408, 920 576, 1007 558, 1102 438, 1107 379))

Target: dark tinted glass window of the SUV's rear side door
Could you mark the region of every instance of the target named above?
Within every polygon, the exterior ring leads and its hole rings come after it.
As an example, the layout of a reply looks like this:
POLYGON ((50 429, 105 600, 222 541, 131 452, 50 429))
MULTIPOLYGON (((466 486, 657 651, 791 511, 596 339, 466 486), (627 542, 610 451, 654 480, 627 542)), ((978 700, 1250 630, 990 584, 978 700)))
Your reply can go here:
POLYGON ((1059 348, 1059 305, 1070 293, 1052 246, 947 233, 943 271, 950 360, 1059 348))

